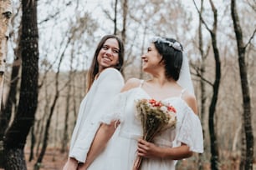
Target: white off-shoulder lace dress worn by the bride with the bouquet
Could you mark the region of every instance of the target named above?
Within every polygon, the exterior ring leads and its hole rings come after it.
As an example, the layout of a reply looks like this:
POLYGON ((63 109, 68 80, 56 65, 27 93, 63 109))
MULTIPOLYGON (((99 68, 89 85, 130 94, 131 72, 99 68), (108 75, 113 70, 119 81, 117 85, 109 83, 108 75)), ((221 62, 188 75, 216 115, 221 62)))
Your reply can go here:
MULTIPOLYGON (((104 117, 102 122, 120 118, 120 126, 110 139, 105 151, 90 165, 88 170, 131 170, 136 158, 137 138, 141 138, 141 122, 135 117, 135 101, 151 98, 141 87, 120 93, 113 107, 112 115, 104 117), (120 114, 119 114, 120 113, 120 114)), ((188 107, 182 97, 169 97, 162 102, 172 104, 177 110, 177 127, 167 129, 155 138, 158 146, 174 148, 186 143, 192 152, 203 152, 201 122, 197 115, 188 107)), ((144 159, 141 170, 174 170, 177 161, 171 159, 144 159)))

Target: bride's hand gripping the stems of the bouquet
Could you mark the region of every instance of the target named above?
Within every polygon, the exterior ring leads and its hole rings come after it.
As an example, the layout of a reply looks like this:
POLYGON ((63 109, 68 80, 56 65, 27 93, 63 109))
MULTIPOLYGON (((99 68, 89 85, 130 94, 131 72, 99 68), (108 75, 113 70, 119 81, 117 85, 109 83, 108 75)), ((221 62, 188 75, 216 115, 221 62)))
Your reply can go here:
POLYGON ((154 143, 146 142, 143 139, 138 141, 138 156, 142 158, 161 158, 162 148, 157 147, 154 143))

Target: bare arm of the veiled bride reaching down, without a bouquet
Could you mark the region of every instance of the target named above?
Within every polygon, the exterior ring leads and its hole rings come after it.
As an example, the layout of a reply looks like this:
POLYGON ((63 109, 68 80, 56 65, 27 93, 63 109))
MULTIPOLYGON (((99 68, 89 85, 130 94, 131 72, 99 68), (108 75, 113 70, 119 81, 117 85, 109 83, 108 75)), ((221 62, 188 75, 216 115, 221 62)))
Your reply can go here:
MULTIPOLYGON (((117 122, 118 123, 118 122, 117 122)), ((93 143, 90 146, 90 150, 87 153, 87 158, 84 164, 79 165, 79 170, 86 169, 90 166, 95 158, 104 150, 106 144, 115 133, 116 121, 110 122, 110 124, 101 124, 97 133, 95 134, 95 138, 93 143)))

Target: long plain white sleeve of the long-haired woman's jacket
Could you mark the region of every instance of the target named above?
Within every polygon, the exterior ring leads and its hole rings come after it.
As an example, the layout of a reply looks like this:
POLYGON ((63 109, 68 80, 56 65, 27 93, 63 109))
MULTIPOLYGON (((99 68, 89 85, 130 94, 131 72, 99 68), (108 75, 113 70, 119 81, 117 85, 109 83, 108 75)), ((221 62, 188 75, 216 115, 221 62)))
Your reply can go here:
POLYGON ((72 134, 69 157, 84 163, 90 144, 100 127, 100 117, 106 113, 110 101, 124 85, 124 79, 115 68, 106 68, 93 83, 79 108, 78 120, 72 134))

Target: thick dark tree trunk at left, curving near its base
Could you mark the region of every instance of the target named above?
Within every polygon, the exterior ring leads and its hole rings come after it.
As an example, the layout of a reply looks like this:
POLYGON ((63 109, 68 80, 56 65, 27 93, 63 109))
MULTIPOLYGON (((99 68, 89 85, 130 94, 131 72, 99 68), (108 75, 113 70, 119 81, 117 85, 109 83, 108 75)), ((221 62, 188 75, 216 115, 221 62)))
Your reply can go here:
POLYGON ((38 26, 37 1, 22 1, 22 78, 18 110, 4 139, 5 168, 26 169, 23 148, 33 125, 38 104, 38 26), (18 164, 17 164, 18 163, 18 164), (17 167, 16 167, 17 166, 17 167))

